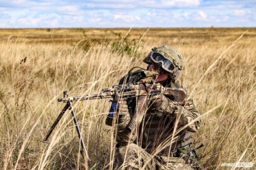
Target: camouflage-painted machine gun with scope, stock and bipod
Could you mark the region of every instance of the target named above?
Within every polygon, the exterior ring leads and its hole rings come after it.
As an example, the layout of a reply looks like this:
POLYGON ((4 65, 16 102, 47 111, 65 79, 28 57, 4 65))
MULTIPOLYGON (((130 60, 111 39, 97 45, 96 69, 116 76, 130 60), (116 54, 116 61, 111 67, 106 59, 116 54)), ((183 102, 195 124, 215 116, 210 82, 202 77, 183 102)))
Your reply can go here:
MULTIPOLYGON (((164 94, 169 96, 171 100, 176 101, 177 103, 184 105, 186 103, 187 90, 185 88, 169 88, 163 87, 159 83, 154 83, 154 78, 159 75, 159 72, 155 71, 147 71, 142 72, 142 79, 137 83, 132 84, 119 84, 114 85, 109 89, 102 89, 100 94, 92 94, 85 96, 73 96, 68 97, 67 91, 63 91, 63 98, 58 98, 58 102, 66 103, 63 110, 58 115, 58 118, 55 120, 50 130, 48 131, 46 137, 43 139, 43 142, 48 141, 48 137, 50 137, 51 132, 53 132, 55 126, 60 121, 60 118, 63 117, 65 111, 70 108, 71 113, 73 115, 73 120, 75 123, 75 128, 78 132, 78 137, 80 138, 80 143, 82 145, 82 153, 85 153, 87 160, 90 160, 87 154, 87 149, 85 147, 85 142, 82 139, 82 133, 78 125, 78 120, 75 115, 75 111, 72 103, 74 101, 85 101, 92 99, 102 99, 102 98, 132 98, 137 96, 155 96, 158 94, 164 94)), ((138 116, 134 116, 132 118, 131 123, 129 125, 129 130, 132 130, 135 123, 137 122, 138 116)))

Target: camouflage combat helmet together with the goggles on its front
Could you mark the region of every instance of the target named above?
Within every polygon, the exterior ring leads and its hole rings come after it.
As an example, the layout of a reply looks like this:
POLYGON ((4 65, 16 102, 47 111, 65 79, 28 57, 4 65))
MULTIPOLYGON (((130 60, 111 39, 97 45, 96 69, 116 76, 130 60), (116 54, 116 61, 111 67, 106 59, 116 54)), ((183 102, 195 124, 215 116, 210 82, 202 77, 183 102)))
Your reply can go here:
POLYGON ((152 48, 143 62, 146 64, 155 64, 173 79, 176 79, 183 69, 183 57, 181 53, 174 47, 165 44, 152 48))

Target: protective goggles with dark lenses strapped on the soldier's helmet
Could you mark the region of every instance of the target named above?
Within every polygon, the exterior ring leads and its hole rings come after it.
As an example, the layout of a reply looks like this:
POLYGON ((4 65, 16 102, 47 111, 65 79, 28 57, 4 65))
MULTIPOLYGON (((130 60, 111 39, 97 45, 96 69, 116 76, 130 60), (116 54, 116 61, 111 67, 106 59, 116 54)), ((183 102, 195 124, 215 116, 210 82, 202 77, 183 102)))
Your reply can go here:
POLYGON ((151 52, 151 54, 149 54, 149 57, 151 61, 156 64, 156 66, 161 66, 164 71, 170 73, 176 71, 174 64, 170 60, 166 59, 166 57, 164 57, 164 55, 161 55, 159 52, 151 52))

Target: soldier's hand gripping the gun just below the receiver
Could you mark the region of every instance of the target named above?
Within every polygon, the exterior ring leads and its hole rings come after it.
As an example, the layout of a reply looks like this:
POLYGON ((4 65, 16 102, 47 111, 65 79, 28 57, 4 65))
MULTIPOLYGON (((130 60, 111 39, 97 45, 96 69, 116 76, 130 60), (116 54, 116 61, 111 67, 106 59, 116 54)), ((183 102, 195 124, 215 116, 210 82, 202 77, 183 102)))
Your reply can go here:
POLYGON ((149 102, 149 108, 155 108, 158 111, 166 110, 169 104, 169 99, 164 96, 164 94, 159 94, 156 96, 152 96, 149 102))

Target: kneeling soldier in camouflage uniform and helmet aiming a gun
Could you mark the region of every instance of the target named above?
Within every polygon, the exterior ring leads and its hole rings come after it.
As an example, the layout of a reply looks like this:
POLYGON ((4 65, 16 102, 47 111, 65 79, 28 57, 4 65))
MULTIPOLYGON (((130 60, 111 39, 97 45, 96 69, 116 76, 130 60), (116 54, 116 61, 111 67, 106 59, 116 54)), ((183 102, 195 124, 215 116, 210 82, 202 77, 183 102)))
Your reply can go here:
MULTIPOLYGON (((162 86, 182 87, 177 78, 183 69, 183 57, 174 47, 154 47, 143 62, 148 70, 160 72, 155 81, 162 86)), ((139 81, 140 72, 130 70, 119 84, 139 81)), ((193 169, 196 155, 191 152, 191 132, 198 130, 201 120, 191 98, 183 106, 164 94, 146 98, 146 105, 138 98, 119 98, 117 115, 117 169, 193 169), (144 111, 144 118, 136 130, 130 131, 127 125, 137 111, 144 111)))

